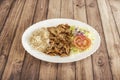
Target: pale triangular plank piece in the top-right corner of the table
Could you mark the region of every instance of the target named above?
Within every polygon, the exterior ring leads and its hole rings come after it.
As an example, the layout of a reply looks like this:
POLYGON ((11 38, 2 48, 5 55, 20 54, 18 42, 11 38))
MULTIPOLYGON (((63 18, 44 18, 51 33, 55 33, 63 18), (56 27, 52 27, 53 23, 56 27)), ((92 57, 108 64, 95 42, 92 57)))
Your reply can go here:
POLYGON ((120 37, 120 0, 108 0, 120 37))

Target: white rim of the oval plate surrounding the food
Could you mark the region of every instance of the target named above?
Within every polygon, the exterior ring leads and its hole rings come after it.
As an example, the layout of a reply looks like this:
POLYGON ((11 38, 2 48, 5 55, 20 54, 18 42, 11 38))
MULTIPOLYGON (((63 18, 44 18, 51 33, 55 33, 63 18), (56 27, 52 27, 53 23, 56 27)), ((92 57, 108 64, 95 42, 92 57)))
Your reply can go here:
POLYGON ((54 62, 54 63, 67 63, 67 62, 74 62, 74 61, 84 59, 84 58, 92 55, 99 48, 100 41, 101 41, 101 39, 100 39, 98 32, 91 26, 89 26, 83 22, 77 21, 77 20, 61 19, 61 18, 40 21, 40 22, 30 26, 28 29, 26 29, 22 36, 22 45, 29 54, 31 54, 32 56, 34 56, 35 58, 38 58, 40 60, 47 61, 47 62, 54 62), (84 52, 81 52, 81 53, 78 53, 75 55, 70 55, 68 57, 59 57, 59 56, 46 55, 42 52, 39 52, 39 51, 33 49, 29 45, 28 40, 33 31, 35 31, 36 29, 41 28, 41 27, 57 26, 58 24, 69 24, 69 25, 74 25, 74 26, 80 26, 81 28, 87 28, 87 30, 89 30, 90 33, 92 33, 95 38, 94 42, 92 44, 92 47, 89 50, 86 50, 84 52))

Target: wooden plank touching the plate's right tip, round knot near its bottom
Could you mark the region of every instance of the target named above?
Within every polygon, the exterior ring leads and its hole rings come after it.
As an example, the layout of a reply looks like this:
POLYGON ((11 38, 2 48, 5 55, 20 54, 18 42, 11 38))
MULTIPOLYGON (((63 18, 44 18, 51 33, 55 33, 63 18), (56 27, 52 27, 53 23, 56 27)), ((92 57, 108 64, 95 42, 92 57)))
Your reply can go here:
POLYGON ((100 34, 101 45, 92 55, 94 80, 112 80, 111 69, 105 45, 104 32, 101 25, 100 14, 96 0, 86 0, 88 24, 93 26, 100 34))

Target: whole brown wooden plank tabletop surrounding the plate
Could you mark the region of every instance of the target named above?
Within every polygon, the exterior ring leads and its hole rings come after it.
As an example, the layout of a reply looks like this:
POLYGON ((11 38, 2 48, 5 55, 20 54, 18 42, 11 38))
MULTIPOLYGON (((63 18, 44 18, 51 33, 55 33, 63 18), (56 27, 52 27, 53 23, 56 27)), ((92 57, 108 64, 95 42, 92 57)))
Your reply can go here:
POLYGON ((0 0, 0 80, 120 80, 120 0, 0 0), (88 23, 100 34, 100 48, 66 64, 32 57, 21 36, 50 18, 88 23))

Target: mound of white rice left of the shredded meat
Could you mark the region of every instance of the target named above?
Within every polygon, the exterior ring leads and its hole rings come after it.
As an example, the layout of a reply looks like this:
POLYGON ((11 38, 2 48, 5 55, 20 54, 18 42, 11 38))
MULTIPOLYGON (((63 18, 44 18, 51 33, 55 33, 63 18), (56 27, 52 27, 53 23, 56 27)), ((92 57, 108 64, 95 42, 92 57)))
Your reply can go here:
POLYGON ((49 32, 47 28, 40 28, 35 30, 30 37, 30 45, 40 51, 44 52, 49 46, 49 32))

